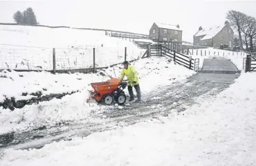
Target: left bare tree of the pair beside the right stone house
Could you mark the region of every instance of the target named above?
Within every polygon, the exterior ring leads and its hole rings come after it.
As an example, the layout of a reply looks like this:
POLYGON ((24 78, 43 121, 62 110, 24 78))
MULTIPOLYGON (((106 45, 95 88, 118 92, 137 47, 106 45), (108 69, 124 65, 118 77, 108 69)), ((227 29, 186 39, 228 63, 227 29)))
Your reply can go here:
POLYGON ((243 50, 244 48, 241 38, 241 28, 243 28, 244 26, 244 20, 246 19, 246 15, 236 10, 230 10, 228 11, 226 19, 228 19, 228 21, 230 22, 230 26, 237 30, 240 40, 240 48, 241 50, 243 50))

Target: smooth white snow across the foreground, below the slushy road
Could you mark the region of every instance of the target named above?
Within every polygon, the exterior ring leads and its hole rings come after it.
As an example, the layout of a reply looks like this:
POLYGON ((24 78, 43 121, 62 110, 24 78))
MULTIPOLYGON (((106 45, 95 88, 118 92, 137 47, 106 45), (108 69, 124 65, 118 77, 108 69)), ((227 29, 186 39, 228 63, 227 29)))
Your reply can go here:
POLYGON ((217 97, 154 118, 42 149, 6 149, 1 165, 254 165, 256 73, 217 97), (70 155, 73 154, 73 155, 70 155))

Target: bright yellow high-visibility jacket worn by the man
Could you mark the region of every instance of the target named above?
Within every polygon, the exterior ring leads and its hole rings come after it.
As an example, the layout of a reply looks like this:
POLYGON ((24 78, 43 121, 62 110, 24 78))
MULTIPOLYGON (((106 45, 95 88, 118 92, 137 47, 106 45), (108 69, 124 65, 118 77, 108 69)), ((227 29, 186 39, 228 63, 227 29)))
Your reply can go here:
POLYGON ((134 66, 129 65, 128 68, 122 68, 122 72, 120 75, 121 80, 123 80, 124 77, 127 77, 128 85, 134 86, 138 84, 138 72, 135 70, 134 66), (136 82, 136 83, 133 83, 136 82))

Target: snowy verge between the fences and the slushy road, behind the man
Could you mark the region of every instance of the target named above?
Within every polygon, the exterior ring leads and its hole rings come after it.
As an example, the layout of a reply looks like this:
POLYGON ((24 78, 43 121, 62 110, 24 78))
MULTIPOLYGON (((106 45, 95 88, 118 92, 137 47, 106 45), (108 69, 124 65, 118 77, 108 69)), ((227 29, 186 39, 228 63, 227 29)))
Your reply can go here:
MULTIPOLYGON (((168 59, 164 57, 140 59, 131 64, 139 73, 140 89, 144 96, 158 86, 179 82, 195 73, 183 66, 168 62, 168 59)), ((120 77, 121 69, 122 65, 118 65, 108 68, 103 73, 112 77, 120 77)), ((49 102, 26 105, 22 109, 15 109, 15 111, 0 108, 0 133, 37 127, 42 124, 51 125, 65 120, 79 121, 90 118, 90 113, 93 111, 104 111, 103 106, 93 104, 92 107, 86 100, 89 98, 89 91, 92 90, 90 83, 107 81, 109 80, 108 76, 102 77, 99 73, 53 75, 46 72, 17 73, 15 71, 3 71, 0 75, 4 76, 0 78, 0 102, 3 102, 5 98, 28 100, 33 97, 29 95, 30 93, 38 91, 42 95, 79 91, 72 95, 66 95, 61 100, 53 99, 49 102), (22 96, 22 93, 28 93, 28 95, 22 96)), ((129 94, 127 89, 125 92, 127 95, 129 94)))

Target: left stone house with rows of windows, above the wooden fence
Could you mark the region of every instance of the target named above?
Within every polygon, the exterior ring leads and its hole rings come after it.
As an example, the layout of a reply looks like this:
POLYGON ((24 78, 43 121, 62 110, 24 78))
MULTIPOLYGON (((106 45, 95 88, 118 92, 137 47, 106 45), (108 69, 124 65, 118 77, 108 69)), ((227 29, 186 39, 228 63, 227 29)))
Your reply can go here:
POLYGON ((179 25, 154 23, 149 30, 149 39, 154 42, 182 42, 182 30, 179 25))

